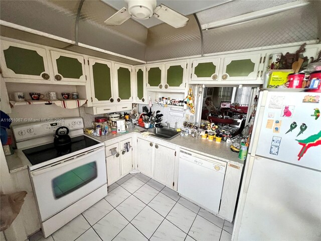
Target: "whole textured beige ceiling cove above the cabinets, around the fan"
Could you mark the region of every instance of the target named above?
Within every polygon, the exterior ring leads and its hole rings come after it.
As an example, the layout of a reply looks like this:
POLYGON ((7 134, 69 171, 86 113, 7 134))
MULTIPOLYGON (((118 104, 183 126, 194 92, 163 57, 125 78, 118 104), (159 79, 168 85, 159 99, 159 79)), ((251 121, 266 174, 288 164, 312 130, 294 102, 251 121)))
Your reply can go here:
MULTIPOLYGON (((123 1, 123 0, 119 0, 123 1)), ((202 0, 203 1, 203 0, 202 0)), ((177 1, 168 1, 179 3, 177 1)), ((198 1, 183 1, 183 4, 198 1)), ((217 1, 214 1, 217 2, 217 1)), ((197 13, 200 24, 223 20, 289 1, 235 0, 197 13)), ((45 37, 26 34, 15 29, 2 29, 1 35, 38 44, 65 48, 75 41, 76 16, 80 1, 6 1, 0 0, 0 19, 43 32, 45 37), (48 35, 65 38, 50 41, 48 35), (71 40, 71 41, 70 41, 71 40)), ((278 44, 317 40, 321 35, 321 1, 272 16, 241 24, 202 31, 193 15, 187 26, 175 29, 165 23, 145 28, 133 20, 120 26, 106 26, 104 21, 116 12, 102 1, 86 0, 83 3, 78 31, 79 46, 69 50, 106 59, 127 58, 130 63, 157 61, 179 57, 242 50, 278 44), (94 50, 84 48, 91 46, 94 50), (99 52, 100 51, 100 52, 99 52), (112 53, 111 53, 112 52, 112 53), (100 53, 100 54, 99 54, 100 53), (113 54, 115 53, 115 54, 113 54), (114 55, 115 58, 110 56, 114 55), (110 58, 109 58, 110 57, 110 58)), ((12 27, 12 26, 10 26, 12 27)), ((126 61, 120 61, 126 62, 126 61)))

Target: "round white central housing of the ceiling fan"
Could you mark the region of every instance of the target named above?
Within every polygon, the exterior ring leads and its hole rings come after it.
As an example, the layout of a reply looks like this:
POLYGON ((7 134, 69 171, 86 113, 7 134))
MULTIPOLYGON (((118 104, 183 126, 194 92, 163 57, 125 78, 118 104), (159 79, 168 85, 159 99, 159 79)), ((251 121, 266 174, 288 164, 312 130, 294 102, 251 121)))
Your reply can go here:
POLYGON ((156 1, 125 0, 129 14, 139 20, 149 19, 153 15, 156 1))

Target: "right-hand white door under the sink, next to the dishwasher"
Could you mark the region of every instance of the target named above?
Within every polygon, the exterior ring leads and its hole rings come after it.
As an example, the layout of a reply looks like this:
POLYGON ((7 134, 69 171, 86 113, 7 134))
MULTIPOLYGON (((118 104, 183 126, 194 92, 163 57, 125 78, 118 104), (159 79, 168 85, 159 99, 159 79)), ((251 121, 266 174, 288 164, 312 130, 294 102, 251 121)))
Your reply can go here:
POLYGON ((174 164, 176 151, 155 144, 154 179, 166 186, 174 186, 174 164))

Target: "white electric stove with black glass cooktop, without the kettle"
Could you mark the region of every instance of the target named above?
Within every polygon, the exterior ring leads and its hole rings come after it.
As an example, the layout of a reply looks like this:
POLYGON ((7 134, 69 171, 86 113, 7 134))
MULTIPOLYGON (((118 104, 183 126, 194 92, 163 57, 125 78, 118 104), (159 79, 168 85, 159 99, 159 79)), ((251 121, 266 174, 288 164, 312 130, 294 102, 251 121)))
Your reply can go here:
POLYGON ((29 174, 45 237, 107 195, 104 143, 83 134, 83 120, 58 119, 13 127, 29 174), (67 127, 71 147, 59 151, 54 136, 67 127))

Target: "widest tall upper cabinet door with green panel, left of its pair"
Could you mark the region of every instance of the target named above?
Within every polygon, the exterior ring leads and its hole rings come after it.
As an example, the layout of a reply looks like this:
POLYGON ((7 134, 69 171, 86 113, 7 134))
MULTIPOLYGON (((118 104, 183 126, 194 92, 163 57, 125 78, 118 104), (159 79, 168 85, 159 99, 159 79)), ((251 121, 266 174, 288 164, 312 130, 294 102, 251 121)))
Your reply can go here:
POLYGON ((93 104, 113 103, 112 63, 91 58, 88 61, 93 104))

